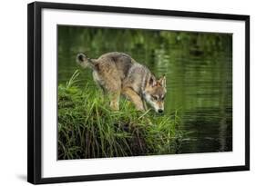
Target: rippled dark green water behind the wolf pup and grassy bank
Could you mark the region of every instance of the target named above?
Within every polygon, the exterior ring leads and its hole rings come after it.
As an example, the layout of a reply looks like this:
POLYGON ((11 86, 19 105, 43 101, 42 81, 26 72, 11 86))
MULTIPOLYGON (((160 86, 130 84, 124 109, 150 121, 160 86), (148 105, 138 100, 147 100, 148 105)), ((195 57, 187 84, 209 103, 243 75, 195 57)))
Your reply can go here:
MULTIPOLYGON (((157 76, 166 74, 165 114, 178 111, 187 133, 178 153, 232 151, 232 35, 192 32, 58 27, 58 83, 79 67, 79 52, 97 58, 130 54, 157 76)), ((89 69, 79 85, 95 88, 89 69)))

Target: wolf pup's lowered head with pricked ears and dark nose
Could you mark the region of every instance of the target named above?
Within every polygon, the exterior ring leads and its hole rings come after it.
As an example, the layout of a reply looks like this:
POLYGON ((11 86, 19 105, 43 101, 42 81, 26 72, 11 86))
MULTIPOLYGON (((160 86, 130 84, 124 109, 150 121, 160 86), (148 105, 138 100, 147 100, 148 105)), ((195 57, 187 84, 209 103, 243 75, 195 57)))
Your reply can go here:
POLYGON ((156 113, 163 113, 166 93, 166 77, 163 75, 159 80, 150 77, 143 95, 146 102, 154 108, 156 113))

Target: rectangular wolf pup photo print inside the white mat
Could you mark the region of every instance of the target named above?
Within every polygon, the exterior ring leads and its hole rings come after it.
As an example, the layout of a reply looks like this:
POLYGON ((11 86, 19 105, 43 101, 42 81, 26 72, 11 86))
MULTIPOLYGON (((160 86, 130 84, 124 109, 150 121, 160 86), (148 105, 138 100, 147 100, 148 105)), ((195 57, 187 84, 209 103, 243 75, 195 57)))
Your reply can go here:
POLYGON ((57 25, 57 159, 232 151, 232 34, 57 25))

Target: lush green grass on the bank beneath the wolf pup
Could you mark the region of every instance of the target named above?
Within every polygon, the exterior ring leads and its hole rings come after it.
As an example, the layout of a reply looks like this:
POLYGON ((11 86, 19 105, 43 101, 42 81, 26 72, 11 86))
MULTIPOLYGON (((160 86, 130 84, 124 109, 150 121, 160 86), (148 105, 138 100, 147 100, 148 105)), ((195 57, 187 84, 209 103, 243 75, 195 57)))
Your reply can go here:
POLYGON ((98 90, 76 86, 75 72, 58 86, 58 159, 85 159, 176 153, 182 141, 177 112, 159 115, 135 110, 121 99, 111 111, 98 90))

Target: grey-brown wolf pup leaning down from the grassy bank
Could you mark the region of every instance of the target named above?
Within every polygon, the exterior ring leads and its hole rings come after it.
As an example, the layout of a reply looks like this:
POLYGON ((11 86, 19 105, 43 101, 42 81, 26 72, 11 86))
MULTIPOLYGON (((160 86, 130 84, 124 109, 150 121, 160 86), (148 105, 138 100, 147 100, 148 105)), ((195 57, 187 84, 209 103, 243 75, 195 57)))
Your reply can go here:
POLYGON ((147 103, 156 113, 163 113, 166 77, 155 77, 148 68, 138 64, 128 54, 113 52, 97 59, 77 54, 77 63, 93 70, 93 78, 110 96, 110 107, 119 110, 119 97, 125 95, 138 111, 147 110, 147 103))

